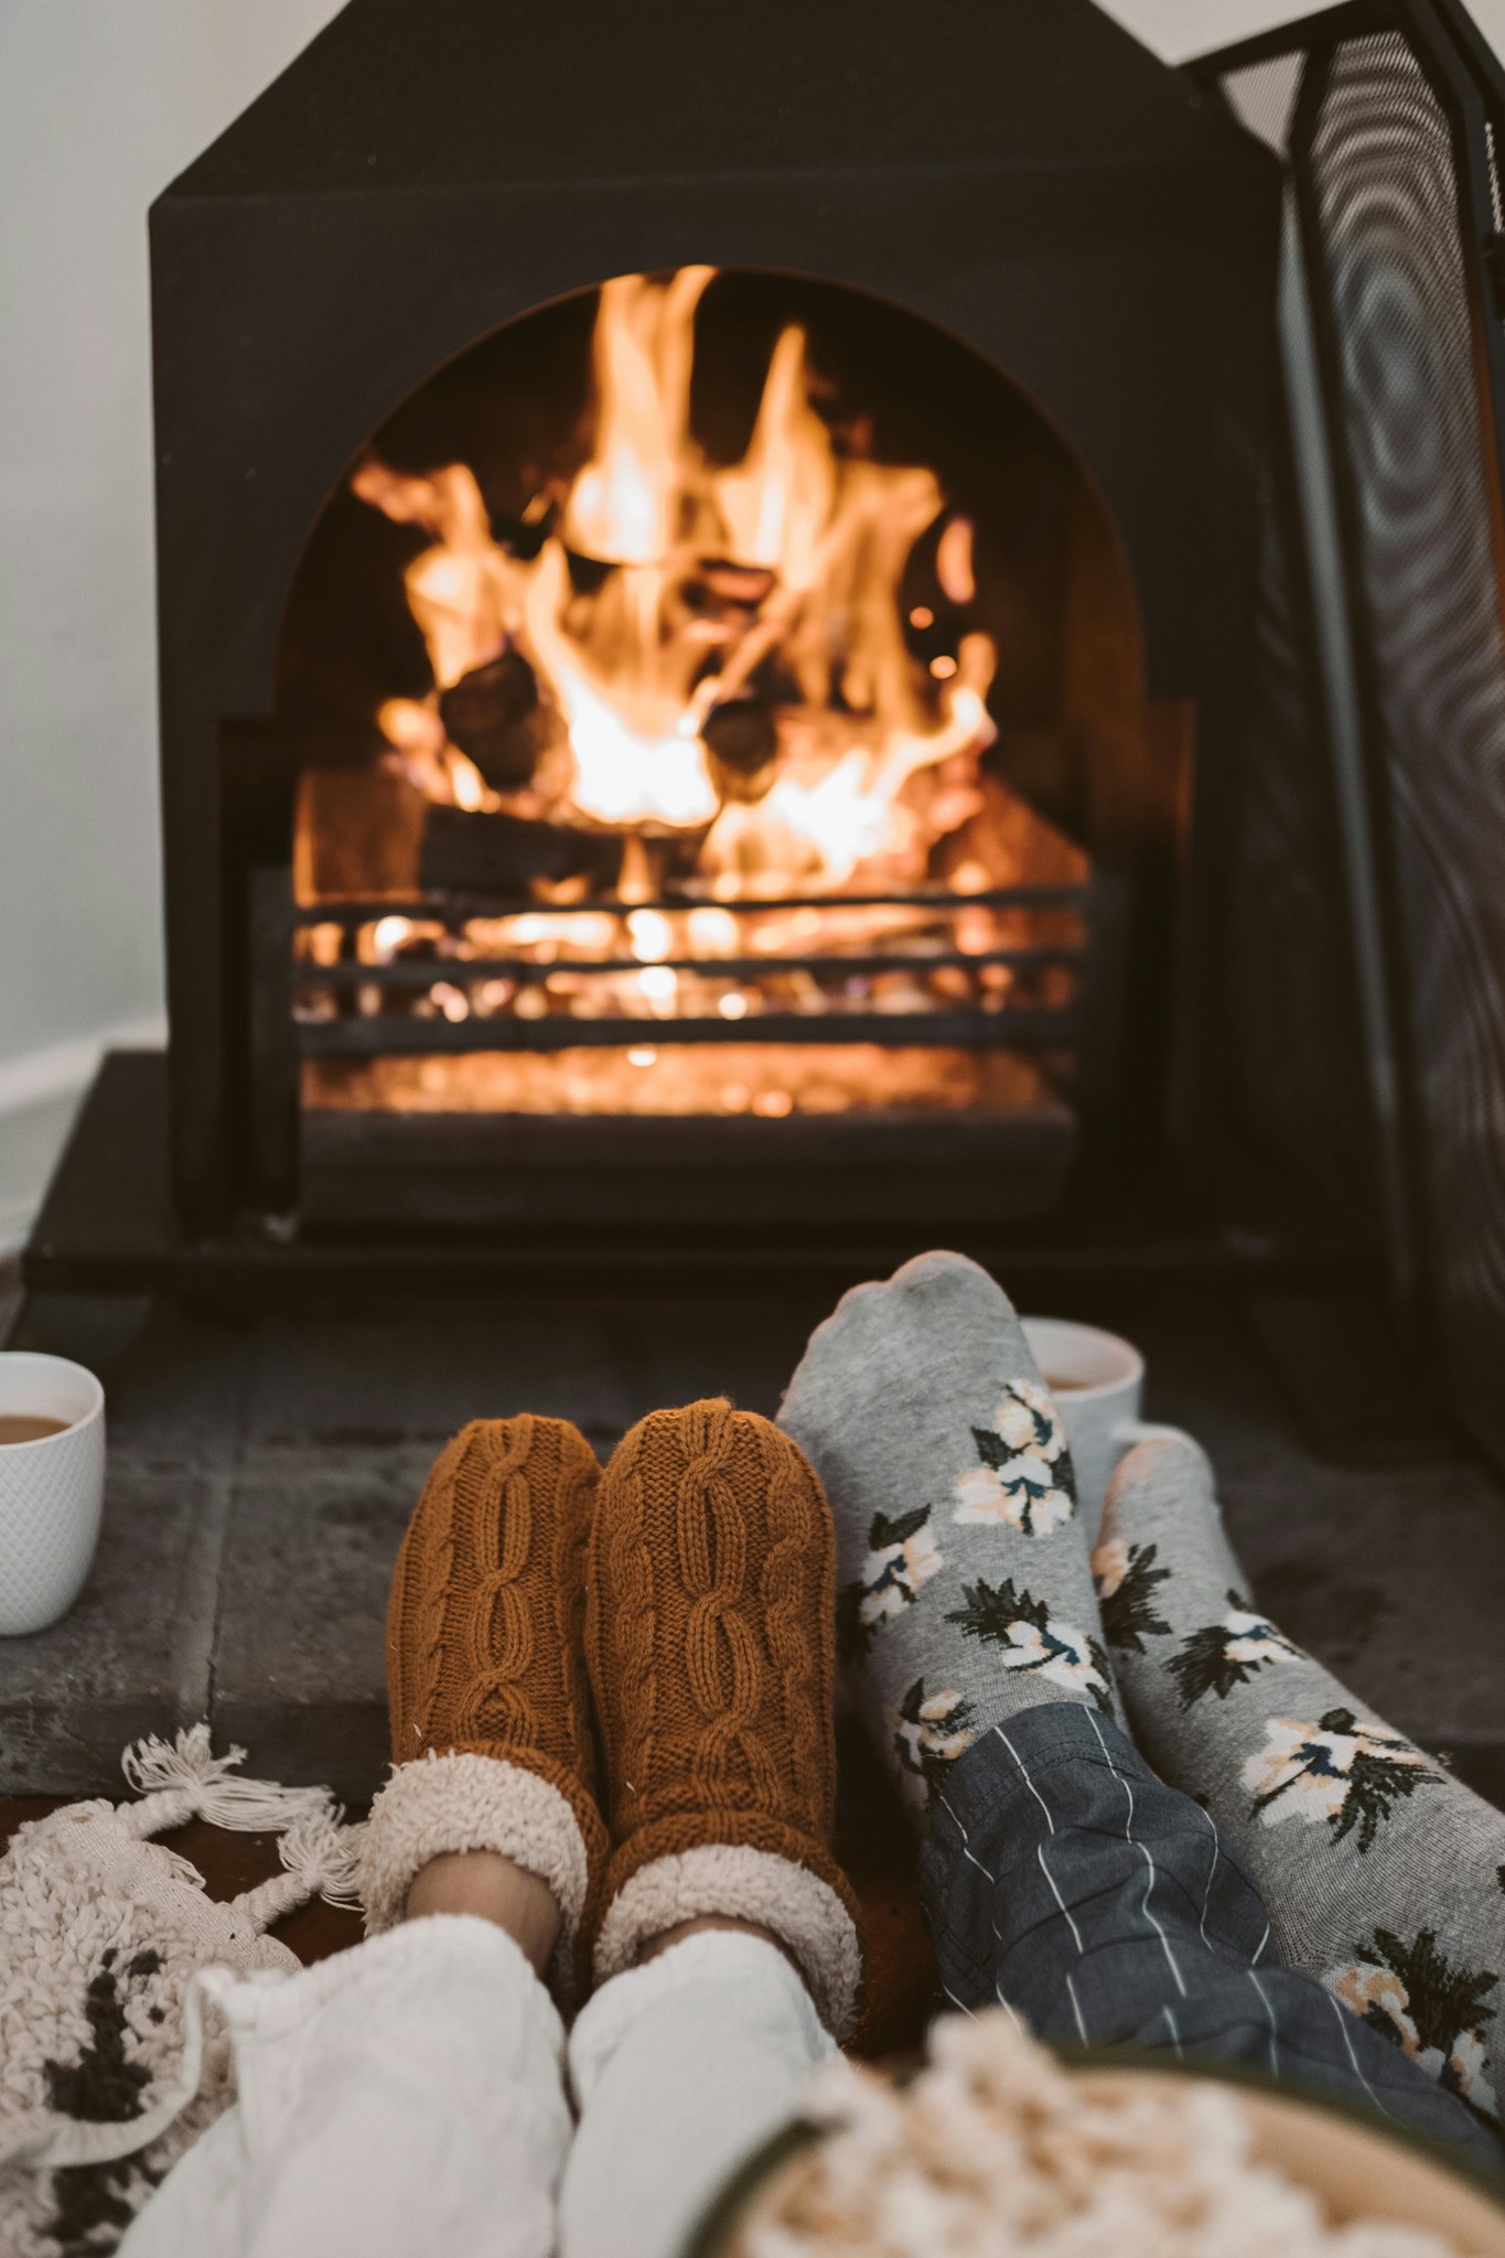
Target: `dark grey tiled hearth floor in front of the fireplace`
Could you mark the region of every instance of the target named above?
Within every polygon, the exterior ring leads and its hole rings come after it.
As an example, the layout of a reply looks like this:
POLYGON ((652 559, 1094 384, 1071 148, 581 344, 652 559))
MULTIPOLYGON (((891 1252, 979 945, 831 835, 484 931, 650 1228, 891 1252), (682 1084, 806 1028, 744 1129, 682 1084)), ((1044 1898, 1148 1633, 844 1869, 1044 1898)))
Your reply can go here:
MULTIPOLYGON (((83 1599, 54 1630, 0 1639, 0 1797, 124 1793, 129 1739, 208 1716, 253 1770, 363 1802, 386 1761, 386 1583, 438 1445, 517 1409, 573 1418, 602 1454, 654 1404, 727 1391, 774 1411, 828 1298, 408 1298, 239 1325, 34 1301, 11 1346, 99 1371, 111 1468, 83 1599)), ((1500 1486, 1444 1445, 1399 1468, 1318 1463, 1255 1337, 1205 1292, 1070 1314, 1144 1346, 1148 1414, 1212 1452, 1259 1601, 1505 1800, 1500 1486)), ((0 1804, 0 1833, 16 1815, 0 1804)), ((907 1845, 855 1763, 846 1827, 875 1924, 905 1928, 907 1845)), ((210 1865, 271 1858, 221 1838, 210 1865)), ((300 1919, 309 1951, 354 1933, 352 1917, 300 1919)))

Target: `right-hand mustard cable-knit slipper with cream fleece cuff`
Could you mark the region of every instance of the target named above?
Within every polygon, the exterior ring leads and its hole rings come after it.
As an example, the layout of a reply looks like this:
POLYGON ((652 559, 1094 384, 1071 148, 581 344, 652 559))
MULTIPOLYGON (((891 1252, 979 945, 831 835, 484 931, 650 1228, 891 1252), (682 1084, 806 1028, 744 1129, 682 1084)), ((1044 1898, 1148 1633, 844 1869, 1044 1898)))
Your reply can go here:
POLYGON ((729 1402, 654 1411, 600 1484, 587 1660, 611 1865, 596 1978, 699 1915, 785 1946, 844 2037, 855 1901, 830 1854, 835 1538, 810 1465, 729 1402))

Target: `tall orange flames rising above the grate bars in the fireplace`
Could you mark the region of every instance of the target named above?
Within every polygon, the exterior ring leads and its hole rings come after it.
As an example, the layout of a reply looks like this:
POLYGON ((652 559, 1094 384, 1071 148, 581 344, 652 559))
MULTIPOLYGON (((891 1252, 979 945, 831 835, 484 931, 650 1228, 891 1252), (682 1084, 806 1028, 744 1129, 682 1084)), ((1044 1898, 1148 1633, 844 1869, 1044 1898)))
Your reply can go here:
POLYGON ((711 280, 686 266, 600 291, 589 454, 535 495, 528 519, 548 526, 535 555, 494 537, 465 463, 413 476, 370 456, 354 472, 363 501, 433 535, 406 596, 435 691, 388 700, 379 727, 431 799, 699 835, 724 894, 839 890, 873 865, 887 885, 921 883, 968 804, 909 784, 991 741, 995 653, 970 632, 954 659, 921 664, 905 621, 934 612, 905 614, 900 583, 939 526, 936 596, 966 607, 970 526, 930 470, 837 449, 796 325, 772 350, 742 461, 706 461, 690 386, 711 280), (571 558, 591 567, 584 594, 571 558), (706 583, 727 601, 706 601, 706 583), (505 653, 560 725, 514 790, 487 786, 440 714, 445 691, 505 653))

